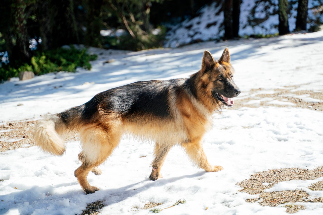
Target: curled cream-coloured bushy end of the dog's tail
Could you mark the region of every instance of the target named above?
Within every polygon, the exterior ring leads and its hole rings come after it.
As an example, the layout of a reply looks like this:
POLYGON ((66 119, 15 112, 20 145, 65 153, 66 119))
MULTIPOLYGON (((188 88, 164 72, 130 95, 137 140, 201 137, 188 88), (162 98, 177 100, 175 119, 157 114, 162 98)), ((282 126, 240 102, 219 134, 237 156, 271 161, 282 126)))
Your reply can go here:
POLYGON ((59 116, 46 116, 36 123, 34 141, 39 148, 50 154, 63 155, 66 148, 64 139, 70 130, 59 116))

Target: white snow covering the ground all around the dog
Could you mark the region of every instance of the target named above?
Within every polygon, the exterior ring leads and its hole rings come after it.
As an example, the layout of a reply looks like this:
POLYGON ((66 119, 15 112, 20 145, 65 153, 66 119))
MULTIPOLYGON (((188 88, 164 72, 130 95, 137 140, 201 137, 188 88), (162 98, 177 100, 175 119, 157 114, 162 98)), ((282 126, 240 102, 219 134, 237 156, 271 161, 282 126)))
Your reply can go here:
MULTIPOLYGON (((242 104, 245 98, 250 102, 253 89, 263 94, 275 89, 293 91, 293 86, 323 91, 323 31, 140 52, 91 48, 99 54, 91 71, 59 72, 25 81, 12 78, 1 84, 0 123, 57 113, 134 81, 188 77, 199 70, 204 50, 219 58, 225 47, 231 53, 235 83, 242 90, 237 99, 242 104), (108 59, 115 61, 103 64, 108 59)), ((281 104, 275 98, 266 99, 281 104)), ((322 102, 309 95, 302 99, 322 102)), ((87 203, 97 200, 105 205, 102 214, 147 214, 151 212, 141 209, 146 202, 163 203, 157 207, 162 209, 180 199, 186 203, 160 214, 285 214, 283 207, 245 202, 257 196, 238 192, 241 187, 236 183, 257 171, 322 166, 322 128, 323 112, 293 105, 224 108, 214 114, 214 128, 204 138, 208 160, 224 170, 207 173, 194 168, 182 149, 175 147, 161 170, 164 178, 150 181, 152 146, 124 137, 101 166, 102 175, 89 174, 89 183, 100 188, 89 195, 73 173, 80 165, 78 141, 68 143, 62 157, 47 155, 37 147, 6 151, 0 154, 0 178, 4 179, 0 182, 0 214, 80 214, 87 203)), ((297 188, 323 197, 323 191, 307 188, 320 180, 279 183, 271 190, 297 188)), ((303 205, 307 209, 297 214, 323 213, 322 203, 303 205)))

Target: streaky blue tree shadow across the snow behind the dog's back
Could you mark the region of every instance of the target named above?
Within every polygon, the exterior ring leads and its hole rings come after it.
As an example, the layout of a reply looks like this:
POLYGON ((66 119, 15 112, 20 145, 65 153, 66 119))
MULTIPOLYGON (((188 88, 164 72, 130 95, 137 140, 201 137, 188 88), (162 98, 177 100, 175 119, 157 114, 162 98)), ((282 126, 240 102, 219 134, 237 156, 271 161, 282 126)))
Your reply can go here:
MULTIPOLYGON (((3 92, 0 95, 0 103, 25 101, 31 99, 50 99, 50 94, 59 93, 61 97, 79 94, 90 90, 94 85, 86 85, 85 82, 96 84, 110 84, 106 88, 100 88, 97 93, 108 90, 109 86, 121 86, 140 80, 168 79, 172 76, 197 72, 201 67, 203 50, 209 50, 214 58, 219 58, 224 47, 242 47, 237 52, 231 53, 231 59, 243 60, 245 58, 263 55, 256 54, 261 48, 280 44, 276 49, 305 46, 322 41, 323 37, 316 38, 284 38, 272 37, 267 39, 242 39, 236 41, 224 41, 219 43, 205 42, 177 49, 152 49, 139 52, 130 52, 119 55, 112 63, 103 64, 104 60, 93 62, 91 71, 81 70, 76 73, 47 74, 45 79, 30 79, 25 81, 11 81, 0 85, 3 92), (292 40, 292 41, 290 41, 292 40), (286 43, 284 41, 287 41, 286 43), (283 46, 281 46, 283 45, 283 46), (96 67, 95 65, 101 65, 96 67), (129 79, 129 81, 127 81, 129 79), (120 82, 120 84, 118 84, 120 82), (18 87, 17 87, 18 86, 18 87)), ((275 47, 274 47, 275 49, 275 47)), ((110 56, 111 57, 111 56, 110 56)), ((113 57, 113 56, 112 56, 113 57)), ((41 77, 40 77, 41 78, 41 77)), ((93 94, 92 96, 94 96, 93 94)), ((81 105, 81 104, 75 104, 81 105)))

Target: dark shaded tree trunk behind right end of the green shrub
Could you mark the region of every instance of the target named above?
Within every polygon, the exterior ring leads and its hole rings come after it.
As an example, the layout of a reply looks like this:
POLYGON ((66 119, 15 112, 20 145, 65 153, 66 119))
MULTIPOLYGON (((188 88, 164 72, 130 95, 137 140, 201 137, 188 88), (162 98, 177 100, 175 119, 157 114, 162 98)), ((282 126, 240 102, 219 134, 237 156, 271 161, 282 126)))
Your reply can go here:
POLYGON ((92 0, 88 2, 87 26, 85 44, 89 46, 102 47, 102 5, 103 0, 92 0))

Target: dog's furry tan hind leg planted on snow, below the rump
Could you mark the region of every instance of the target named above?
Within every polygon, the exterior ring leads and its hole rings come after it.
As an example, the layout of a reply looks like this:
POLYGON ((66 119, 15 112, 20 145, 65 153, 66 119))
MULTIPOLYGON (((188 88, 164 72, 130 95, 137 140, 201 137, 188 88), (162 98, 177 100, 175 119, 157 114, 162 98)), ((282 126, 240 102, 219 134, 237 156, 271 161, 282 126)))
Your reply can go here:
POLYGON ((113 149, 119 144, 121 131, 115 132, 111 129, 106 131, 94 127, 85 128, 80 135, 83 151, 79 158, 81 157, 82 165, 75 170, 74 175, 84 191, 89 194, 99 190, 89 184, 87 180, 89 171, 102 164, 111 155, 113 149))

